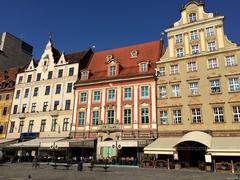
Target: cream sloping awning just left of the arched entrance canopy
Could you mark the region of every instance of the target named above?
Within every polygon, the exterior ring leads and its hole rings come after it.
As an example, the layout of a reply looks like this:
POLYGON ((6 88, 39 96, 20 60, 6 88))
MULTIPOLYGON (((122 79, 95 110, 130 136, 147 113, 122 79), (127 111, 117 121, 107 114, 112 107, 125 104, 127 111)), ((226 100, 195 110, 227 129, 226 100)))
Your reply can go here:
POLYGON ((169 154, 173 155, 174 145, 180 137, 160 137, 144 148, 144 154, 169 154))

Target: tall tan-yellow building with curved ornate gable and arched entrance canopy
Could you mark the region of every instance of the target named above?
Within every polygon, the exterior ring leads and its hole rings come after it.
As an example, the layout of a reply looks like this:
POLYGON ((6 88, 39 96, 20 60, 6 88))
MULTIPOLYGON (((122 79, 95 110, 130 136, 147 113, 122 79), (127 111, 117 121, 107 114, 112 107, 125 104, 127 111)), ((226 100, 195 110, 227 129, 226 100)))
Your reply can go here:
POLYGON ((240 137, 240 47, 224 34, 223 21, 193 0, 166 29, 168 47, 156 69, 159 139, 145 153, 175 154, 190 165, 205 161, 204 155, 240 155, 234 146, 240 137))

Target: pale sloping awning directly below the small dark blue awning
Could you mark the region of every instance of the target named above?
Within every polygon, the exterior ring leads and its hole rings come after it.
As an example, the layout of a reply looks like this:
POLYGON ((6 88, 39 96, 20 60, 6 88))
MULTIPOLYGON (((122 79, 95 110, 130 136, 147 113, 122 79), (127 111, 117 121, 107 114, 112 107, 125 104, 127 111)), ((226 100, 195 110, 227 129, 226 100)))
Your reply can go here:
POLYGON ((15 147, 15 148, 23 148, 23 147, 28 147, 28 148, 36 148, 36 147, 41 147, 41 148, 50 148, 51 145, 54 144, 54 142, 57 142, 59 140, 62 140, 63 138, 37 138, 29 141, 24 141, 20 142, 17 144, 12 144, 9 145, 8 147, 15 147))

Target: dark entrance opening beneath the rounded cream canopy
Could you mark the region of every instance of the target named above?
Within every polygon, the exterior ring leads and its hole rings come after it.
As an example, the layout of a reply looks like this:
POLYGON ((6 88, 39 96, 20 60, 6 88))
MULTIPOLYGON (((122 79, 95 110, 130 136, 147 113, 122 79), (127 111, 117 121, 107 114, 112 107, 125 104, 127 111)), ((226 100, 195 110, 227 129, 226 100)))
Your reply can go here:
POLYGON ((201 162, 205 162, 206 146, 201 143, 182 142, 177 150, 179 161, 184 167, 198 167, 201 162))

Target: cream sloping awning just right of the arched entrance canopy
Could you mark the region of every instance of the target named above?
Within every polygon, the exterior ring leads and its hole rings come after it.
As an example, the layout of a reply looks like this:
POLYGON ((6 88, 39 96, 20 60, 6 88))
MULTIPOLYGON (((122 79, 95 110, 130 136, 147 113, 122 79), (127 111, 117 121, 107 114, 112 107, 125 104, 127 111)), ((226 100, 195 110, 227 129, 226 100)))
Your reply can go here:
POLYGON ((207 152, 212 156, 240 156, 240 137, 213 137, 207 152))

